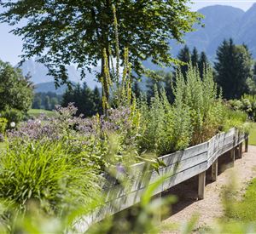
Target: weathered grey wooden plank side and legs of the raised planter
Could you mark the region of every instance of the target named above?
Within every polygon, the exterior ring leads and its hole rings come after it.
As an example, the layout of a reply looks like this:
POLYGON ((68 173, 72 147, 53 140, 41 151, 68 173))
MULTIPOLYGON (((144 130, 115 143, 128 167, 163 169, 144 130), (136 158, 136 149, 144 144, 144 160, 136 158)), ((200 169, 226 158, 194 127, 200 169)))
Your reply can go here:
POLYGON ((226 133, 215 135, 211 140, 201 145, 160 157, 166 166, 161 167, 158 173, 148 168, 148 163, 132 165, 129 174, 125 174, 125 186, 120 185, 117 179, 108 180, 105 185, 107 195, 105 206, 95 211, 90 217, 81 220, 77 227, 84 231, 88 225, 104 219, 107 215, 116 214, 139 203, 147 186, 166 174, 169 176, 154 191, 153 195, 160 194, 174 185, 199 175, 198 197, 203 199, 207 169, 212 167, 212 180, 217 180, 218 157, 229 152, 227 157, 230 157, 231 163, 234 163, 235 154, 237 157, 241 157, 243 141, 246 142, 245 149, 247 151, 247 134, 242 134, 236 128, 232 128, 226 133))

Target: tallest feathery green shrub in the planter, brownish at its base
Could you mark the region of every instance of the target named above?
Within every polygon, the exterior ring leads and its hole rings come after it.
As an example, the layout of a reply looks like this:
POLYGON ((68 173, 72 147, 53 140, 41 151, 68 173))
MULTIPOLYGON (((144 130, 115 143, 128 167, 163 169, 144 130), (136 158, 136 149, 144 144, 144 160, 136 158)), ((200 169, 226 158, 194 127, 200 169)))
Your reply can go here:
POLYGON ((193 132, 190 145, 204 142, 216 134, 223 113, 216 84, 213 82, 212 69, 206 66, 202 79, 198 69, 191 64, 186 77, 177 70, 174 90, 176 100, 181 99, 181 103, 189 110, 193 132))

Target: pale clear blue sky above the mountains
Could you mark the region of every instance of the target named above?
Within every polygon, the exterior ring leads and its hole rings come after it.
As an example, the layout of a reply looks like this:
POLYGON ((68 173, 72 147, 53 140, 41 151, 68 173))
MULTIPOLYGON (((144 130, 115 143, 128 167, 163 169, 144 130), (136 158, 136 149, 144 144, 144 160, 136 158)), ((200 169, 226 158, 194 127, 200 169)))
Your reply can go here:
MULTIPOLYGON (((192 10, 198 10, 203 7, 221 4, 230 5, 246 11, 253 5, 253 3, 256 3, 256 0, 192 0, 192 2, 192 10)), ((0 12, 1 11, 2 10, 0 9, 0 12)), ((15 66, 20 61, 19 55, 22 54, 22 41, 20 37, 9 33, 11 29, 12 28, 6 24, 0 24, 0 60, 9 61, 13 66, 15 66)))

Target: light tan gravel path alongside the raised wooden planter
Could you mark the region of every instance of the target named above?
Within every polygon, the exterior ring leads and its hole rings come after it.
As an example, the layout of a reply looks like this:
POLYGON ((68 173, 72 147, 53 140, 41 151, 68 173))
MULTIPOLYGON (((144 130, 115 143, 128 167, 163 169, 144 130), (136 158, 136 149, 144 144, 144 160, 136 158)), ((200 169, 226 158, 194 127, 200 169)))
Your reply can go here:
MULTIPOLYGON (((186 195, 180 198, 180 202, 173 208, 171 217, 163 221, 163 225, 182 224, 190 220, 195 213, 200 215, 198 227, 202 225, 211 225, 214 220, 223 214, 221 204, 221 192, 223 187, 228 185, 231 178, 236 179, 237 191, 243 192, 247 183, 256 177, 256 146, 249 146, 249 151, 243 153, 241 159, 236 159, 235 167, 227 168, 218 175, 218 180, 207 184, 205 191, 205 199, 196 201, 196 178, 193 185, 193 180, 187 185, 181 185, 182 190, 186 195), (190 191, 189 191, 190 190, 190 191)), ((181 192, 180 192, 181 194, 181 192)), ((165 229, 166 230, 166 229, 165 229)), ((173 231, 162 231, 162 233, 173 233, 173 231)), ((178 232, 177 232, 178 233, 178 232)))

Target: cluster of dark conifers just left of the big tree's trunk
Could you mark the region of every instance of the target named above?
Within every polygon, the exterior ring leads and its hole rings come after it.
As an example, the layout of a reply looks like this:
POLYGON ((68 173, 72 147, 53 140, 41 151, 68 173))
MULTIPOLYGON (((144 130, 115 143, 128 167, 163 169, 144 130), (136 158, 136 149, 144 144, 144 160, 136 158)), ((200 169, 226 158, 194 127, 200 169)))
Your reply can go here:
POLYGON ((68 103, 73 102, 78 108, 77 116, 83 114, 84 117, 91 117, 96 113, 102 114, 101 94, 98 88, 93 91, 83 83, 81 87, 77 84, 74 88, 66 90, 63 94, 61 106, 67 106, 68 103))

